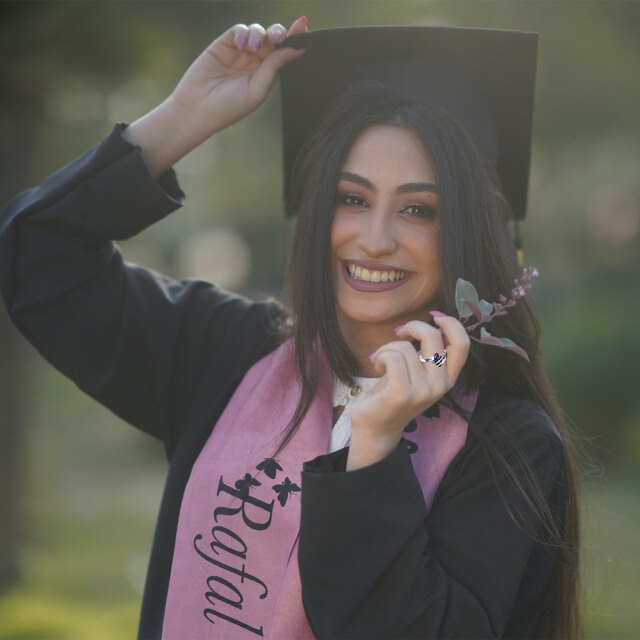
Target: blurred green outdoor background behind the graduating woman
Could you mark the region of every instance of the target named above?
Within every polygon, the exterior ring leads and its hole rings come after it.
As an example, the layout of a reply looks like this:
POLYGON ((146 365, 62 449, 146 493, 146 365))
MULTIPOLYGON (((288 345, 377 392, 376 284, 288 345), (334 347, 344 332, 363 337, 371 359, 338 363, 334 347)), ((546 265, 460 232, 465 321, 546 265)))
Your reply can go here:
MULTIPOLYGON (((4 2, 0 204, 159 104, 237 22, 537 31, 525 265, 546 366, 586 444, 584 609, 592 638, 640 638, 640 3, 4 2)), ((175 165, 182 209, 125 257, 280 295, 276 88, 175 165), (212 250, 215 248, 215 251, 212 250), (215 259, 212 258, 215 256, 215 259)), ((166 464, 159 443, 49 366, 0 308, 0 637, 131 638, 166 464)))

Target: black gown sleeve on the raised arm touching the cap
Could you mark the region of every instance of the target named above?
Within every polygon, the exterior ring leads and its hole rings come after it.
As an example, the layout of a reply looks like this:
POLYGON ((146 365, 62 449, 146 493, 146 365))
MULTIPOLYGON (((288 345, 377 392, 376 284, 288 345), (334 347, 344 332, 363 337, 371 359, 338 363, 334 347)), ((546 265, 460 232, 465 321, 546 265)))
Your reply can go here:
POLYGON ((172 168, 151 176, 127 126, 3 208, 0 292, 54 367, 169 453, 202 367, 241 361, 273 308, 123 260, 114 240, 185 200, 172 168))

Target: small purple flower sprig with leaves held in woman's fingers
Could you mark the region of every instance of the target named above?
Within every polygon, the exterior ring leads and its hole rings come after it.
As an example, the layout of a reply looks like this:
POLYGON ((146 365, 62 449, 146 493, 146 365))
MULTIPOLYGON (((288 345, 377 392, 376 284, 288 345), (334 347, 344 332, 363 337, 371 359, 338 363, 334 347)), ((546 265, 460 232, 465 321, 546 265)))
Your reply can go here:
POLYGON ((475 287, 470 282, 458 278, 456 282, 456 308, 458 309, 459 319, 462 324, 465 325, 471 316, 477 318, 478 321, 476 323, 465 326, 469 334, 477 327, 480 327, 480 338, 471 335, 469 337, 482 344, 513 351, 519 356, 522 356, 527 362, 530 362, 527 352, 515 342, 509 340, 509 338, 496 338, 480 325, 491 322, 496 316, 506 315, 506 310, 509 307, 513 307, 520 298, 524 298, 527 295, 529 289, 531 289, 531 280, 537 278, 538 275, 538 270, 535 267, 525 267, 522 270, 520 279, 515 278, 513 281, 514 287, 511 289, 510 298, 507 300, 505 296, 500 295, 498 302, 480 300, 475 287))

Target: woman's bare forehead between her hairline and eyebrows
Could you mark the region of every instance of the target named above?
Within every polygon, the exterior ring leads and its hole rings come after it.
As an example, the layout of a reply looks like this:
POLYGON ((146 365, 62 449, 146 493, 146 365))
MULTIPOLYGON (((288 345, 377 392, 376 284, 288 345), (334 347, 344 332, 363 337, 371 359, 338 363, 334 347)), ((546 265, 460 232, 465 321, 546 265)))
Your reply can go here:
POLYGON ((373 125, 354 140, 344 171, 364 175, 374 182, 384 180, 433 181, 431 161, 422 141, 412 129, 392 125, 373 125))

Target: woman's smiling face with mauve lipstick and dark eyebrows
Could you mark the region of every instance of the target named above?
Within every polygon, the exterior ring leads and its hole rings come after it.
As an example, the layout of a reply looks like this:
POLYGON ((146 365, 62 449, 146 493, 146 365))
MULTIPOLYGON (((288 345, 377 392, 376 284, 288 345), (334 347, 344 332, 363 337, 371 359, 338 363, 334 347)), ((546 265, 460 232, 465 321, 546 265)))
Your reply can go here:
POLYGON ((340 174, 331 226, 343 329, 429 321, 440 286, 436 211, 434 173, 418 136, 390 125, 362 131, 340 174))

